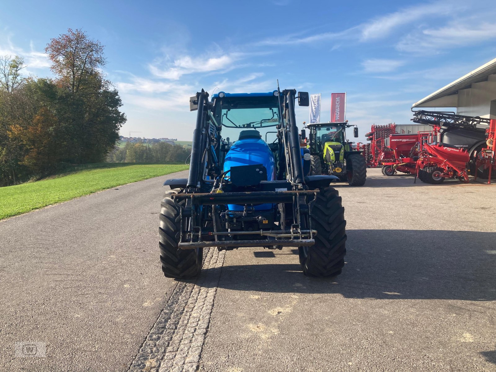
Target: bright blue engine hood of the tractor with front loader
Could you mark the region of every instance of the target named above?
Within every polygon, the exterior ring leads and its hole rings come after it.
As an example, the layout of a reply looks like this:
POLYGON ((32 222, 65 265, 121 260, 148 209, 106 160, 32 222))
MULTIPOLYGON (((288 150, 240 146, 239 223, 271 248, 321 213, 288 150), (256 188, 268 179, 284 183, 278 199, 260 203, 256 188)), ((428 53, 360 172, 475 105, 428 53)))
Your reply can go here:
MULTIPOLYGON (((274 181, 276 175, 274 155, 267 143, 259 137, 246 138, 240 134, 240 138, 241 139, 234 142, 226 154, 224 172, 231 169, 231 167, 262 164, 267 169, 267 181, 274 181)), ((272 204, 259 204, 255 205, 254 208, 255 210, 267 210, 272 208, 272 204)), ((228 209, 232 211, 242 211, 243 206, 229 204, 228 209)))

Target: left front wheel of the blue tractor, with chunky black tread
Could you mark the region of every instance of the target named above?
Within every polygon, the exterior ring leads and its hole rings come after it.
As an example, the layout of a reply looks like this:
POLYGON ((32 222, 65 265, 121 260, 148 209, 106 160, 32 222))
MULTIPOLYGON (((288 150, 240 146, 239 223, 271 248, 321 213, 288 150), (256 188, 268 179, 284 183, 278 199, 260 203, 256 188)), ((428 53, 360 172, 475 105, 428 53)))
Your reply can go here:
POLYGON ((203 248, 179 249, 181 230, 181 204, 176 203, 170 194, 178 190, 166 192, 161 203, 159 247, 162 271, 168 278, 192 278, 198 276, 203 260, 203 248))

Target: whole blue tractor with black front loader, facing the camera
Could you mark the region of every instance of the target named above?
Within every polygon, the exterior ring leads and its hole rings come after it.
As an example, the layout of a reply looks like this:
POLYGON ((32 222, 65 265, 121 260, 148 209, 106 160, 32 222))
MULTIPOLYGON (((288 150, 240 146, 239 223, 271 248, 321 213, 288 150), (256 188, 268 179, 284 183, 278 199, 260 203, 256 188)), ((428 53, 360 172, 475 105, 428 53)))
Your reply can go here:
POLYGON ((160 213, 160 262, 166 277, 199 275, 203 248, 297 247, 304 274, 336 276, 346 254, 346 221, 332 175, 310 175, 300 148, 295 101, 307 92, 205 91, 197 110, 187 179, 171 187, 160 213))

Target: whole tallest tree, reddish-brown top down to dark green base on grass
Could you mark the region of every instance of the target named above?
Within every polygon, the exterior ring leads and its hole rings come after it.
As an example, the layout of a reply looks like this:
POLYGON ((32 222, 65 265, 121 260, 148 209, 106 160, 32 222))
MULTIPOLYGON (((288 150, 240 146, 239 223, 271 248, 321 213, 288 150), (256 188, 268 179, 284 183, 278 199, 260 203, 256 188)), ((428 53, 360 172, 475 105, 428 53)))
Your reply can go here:
POLYGON ((59 119, 66 138, 66 160, 102 161, 126 121, 119 110, 119 93, 99 70, 106 62, 102 44, 80 29, 68 29, 66 34, 51 39, 45 50, 61 87, 59 119))

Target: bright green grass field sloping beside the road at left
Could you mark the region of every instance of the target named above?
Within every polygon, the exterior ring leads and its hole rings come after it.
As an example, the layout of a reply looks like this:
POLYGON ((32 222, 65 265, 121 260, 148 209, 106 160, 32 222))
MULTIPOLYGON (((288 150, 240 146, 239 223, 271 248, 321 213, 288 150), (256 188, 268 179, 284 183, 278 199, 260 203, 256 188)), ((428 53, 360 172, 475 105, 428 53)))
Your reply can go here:
POLYGON ((90 164, 41 181, 0 187, 0 219, 186 169, 188 166, 184 164, 90 164))

